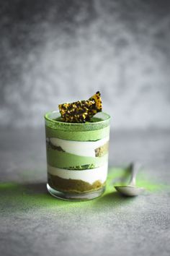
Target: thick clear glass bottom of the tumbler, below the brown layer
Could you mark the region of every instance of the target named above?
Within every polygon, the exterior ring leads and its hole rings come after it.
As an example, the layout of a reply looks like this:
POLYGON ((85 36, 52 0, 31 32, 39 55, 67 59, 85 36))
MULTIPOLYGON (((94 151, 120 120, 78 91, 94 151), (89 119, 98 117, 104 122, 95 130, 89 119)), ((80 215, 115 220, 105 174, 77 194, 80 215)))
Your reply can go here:
POLYGON ((88 193, 69 193, 69 192, 61 192, 55 189, 52 189, 52 187, 47 184, 47 189, 50 195, 53 195, 53 197, 57 197, 61 200, 68 200, 68 201, 85 201, 85 200, 92 200, 94 198, 100 197, 105 190, 105 187, 102 187, 101 189, 98 189, 93 192, 88 193))

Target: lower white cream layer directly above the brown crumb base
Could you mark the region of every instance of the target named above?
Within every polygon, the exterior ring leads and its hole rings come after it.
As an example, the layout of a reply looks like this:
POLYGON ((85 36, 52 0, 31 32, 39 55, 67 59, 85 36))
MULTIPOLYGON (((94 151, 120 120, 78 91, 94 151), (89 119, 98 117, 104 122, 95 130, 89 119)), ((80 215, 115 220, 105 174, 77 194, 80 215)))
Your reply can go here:
POLYGON ((48 173, 63 179, 81 179, 89 184, 93 184, 97 180, 104 183, 107 179, 107 163, 104 166, 83 171, 66 170, 48 165, 48 173))

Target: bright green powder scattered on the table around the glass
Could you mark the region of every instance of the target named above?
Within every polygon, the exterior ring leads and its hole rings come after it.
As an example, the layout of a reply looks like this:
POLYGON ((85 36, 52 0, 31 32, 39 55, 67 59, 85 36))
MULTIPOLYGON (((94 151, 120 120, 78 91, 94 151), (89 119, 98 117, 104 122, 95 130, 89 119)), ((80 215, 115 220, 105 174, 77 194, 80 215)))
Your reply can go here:
MULTIPOLYGON (((113 183, 122 184, 129 179, 129 172, 123 168, 110 168, 107 189, 102 197, 96 200, 89 200, 85 202, 71 202, 59 200, 52 197, 46 189, 45 183, 39 184, 16 184, 16 183, 0 183, 0 213, 11 214, 16 211, 26 211, 30 209, 36 210, 48 210, 51 209, 64 209, 68 208, 104 208, 104 207, 117 207, 119 205, 125 205, 125 203, 132 202, 134 197, 122 197, 113 187, 113 183), (121 179, 121 182, 120 182, 121 179)), ((148 177, 144 172, 138 174, 137 185, 144 187, 146 192, 163 192, 169 191, 170 186, 166 184, 158 184, 150 182, 151 177, 148 177)))

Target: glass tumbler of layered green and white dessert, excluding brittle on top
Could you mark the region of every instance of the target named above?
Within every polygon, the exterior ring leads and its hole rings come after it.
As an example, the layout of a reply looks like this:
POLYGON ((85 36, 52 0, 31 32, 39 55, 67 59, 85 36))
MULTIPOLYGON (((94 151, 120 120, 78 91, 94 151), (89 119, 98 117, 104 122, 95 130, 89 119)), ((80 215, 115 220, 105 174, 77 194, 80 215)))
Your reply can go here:
POLYGON ((110 117, 102 111, 85 115, 88 121, 75 116, 65 121, 60 111, 45 114, 47 187, 55 197, 89 200, 105 189, 110 117))

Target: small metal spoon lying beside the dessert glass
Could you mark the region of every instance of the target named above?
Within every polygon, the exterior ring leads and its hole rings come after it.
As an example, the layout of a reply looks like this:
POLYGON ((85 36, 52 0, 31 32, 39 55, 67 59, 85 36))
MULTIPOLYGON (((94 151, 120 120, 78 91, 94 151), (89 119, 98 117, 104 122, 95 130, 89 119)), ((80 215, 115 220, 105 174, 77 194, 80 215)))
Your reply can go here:
POLYGON ((127 186, 115 186, 117 192, 120 192, 122 195, 127 195, 129 197, 134 197, 136 195, 140 195, 145 189, 143 187, 135 186, 135 178, 136 174, 138 174, 140 166, 138 164, 131 163, 131 179, 130 183, 127 186))

